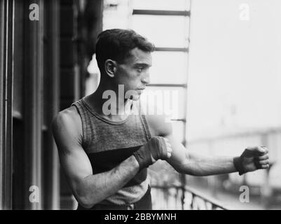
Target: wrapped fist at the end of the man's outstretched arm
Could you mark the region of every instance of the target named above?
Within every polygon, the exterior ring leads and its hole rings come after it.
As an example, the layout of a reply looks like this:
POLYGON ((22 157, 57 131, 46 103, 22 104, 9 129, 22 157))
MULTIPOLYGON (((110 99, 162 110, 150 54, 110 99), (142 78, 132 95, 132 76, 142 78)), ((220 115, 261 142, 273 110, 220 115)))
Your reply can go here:
POLYGON ((233 163, 242 175, 256 169, 268 169, 268 159, 268 149, 265 146, 253 146, 247 147, 240 157, 234 158, 233 163))

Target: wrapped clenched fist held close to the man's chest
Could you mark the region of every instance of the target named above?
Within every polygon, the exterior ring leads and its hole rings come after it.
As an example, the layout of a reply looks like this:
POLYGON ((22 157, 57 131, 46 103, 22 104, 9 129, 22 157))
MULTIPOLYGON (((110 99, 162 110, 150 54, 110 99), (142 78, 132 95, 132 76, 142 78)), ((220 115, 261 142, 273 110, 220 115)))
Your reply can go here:
POLYGON ((167 160, 170 158, 172 147, 168 139, 153 137, 133 155, 137 162, 139 162, 139 169, 143 169, 152 165, 156 160, 167 160))

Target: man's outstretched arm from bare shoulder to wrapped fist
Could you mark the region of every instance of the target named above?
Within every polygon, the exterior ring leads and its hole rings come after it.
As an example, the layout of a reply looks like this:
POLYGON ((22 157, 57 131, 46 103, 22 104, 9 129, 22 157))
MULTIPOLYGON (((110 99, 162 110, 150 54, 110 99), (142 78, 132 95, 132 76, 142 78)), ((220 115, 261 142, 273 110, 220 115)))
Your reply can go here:
POLYGON ((172 133, 171 123, 165 116, 146 116, 153 136, 161 136, 170 142, 172 155, 167 162, 181 174, 207 176, 239 172, 253 172, 267 169, 268 149, 264 146, 248 147, 242 155, 233 157, 203 155, 186 149, 172 133))

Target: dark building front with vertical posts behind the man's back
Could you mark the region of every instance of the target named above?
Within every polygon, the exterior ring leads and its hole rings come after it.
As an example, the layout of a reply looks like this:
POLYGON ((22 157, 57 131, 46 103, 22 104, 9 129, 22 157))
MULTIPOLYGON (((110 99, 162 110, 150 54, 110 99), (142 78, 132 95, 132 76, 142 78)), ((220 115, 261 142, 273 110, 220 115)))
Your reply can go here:
POLYGON ((84 96, 100 31, 102 0, 0 1, 0 209, 72 208, 50 123, 84 96))

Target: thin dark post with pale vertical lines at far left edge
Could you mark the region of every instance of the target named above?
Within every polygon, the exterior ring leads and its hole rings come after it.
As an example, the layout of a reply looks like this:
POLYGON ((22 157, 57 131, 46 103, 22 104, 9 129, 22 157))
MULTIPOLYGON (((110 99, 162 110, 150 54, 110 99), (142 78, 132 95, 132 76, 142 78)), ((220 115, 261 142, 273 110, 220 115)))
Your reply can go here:
POLYGON ((0 3, 1 209, 12 209, 13 4, 8 0, 0 3))

